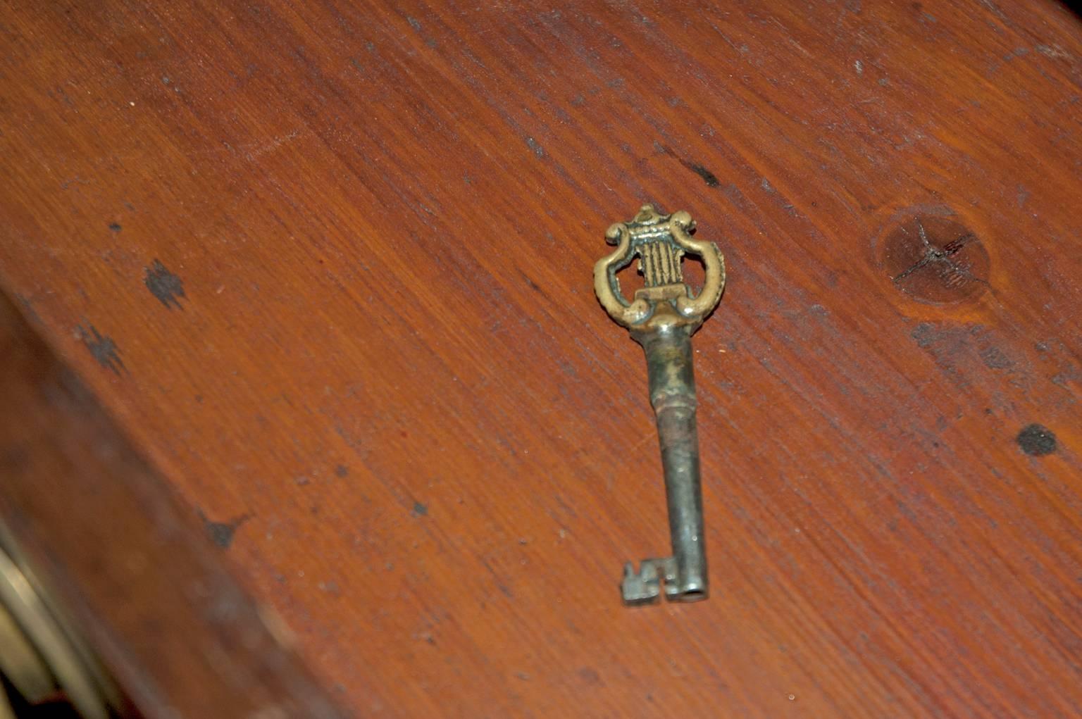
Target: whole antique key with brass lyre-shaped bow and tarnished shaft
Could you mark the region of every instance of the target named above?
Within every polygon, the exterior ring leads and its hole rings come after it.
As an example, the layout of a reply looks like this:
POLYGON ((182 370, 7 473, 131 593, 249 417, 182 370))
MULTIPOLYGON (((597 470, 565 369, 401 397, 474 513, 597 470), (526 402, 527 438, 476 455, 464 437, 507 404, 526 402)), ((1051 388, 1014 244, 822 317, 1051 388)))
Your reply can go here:
POLYGON ((671 557, 644 559, 637 574, 628 562, 621 586, 628 604, 655 601, 662 581, 670 601, 705 599, 708 592, 691 334, 722 297, 725 259, 713 242, 692 239, 694 228, 687 212, 663 215, 644 204, 633 219, 608 228, 605 238, 616 251, 594 265, 597 299, 646 352, 673 547, 671 557), (707 268, 698 294, 684 283, 685 254, 701 257, 707 268), (616 275, 636 255, 645 287, 629 302, 616 275))

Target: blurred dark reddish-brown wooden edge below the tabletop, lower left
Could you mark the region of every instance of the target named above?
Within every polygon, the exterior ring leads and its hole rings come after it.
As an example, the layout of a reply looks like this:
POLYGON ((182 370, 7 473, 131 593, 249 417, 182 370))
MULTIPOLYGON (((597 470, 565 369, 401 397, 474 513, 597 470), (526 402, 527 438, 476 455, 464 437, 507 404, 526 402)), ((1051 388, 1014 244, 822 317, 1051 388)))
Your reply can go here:
POLYGON ((0 519, 141 716, 343 716, 282 645, 280 620, 243 595, 190 510, 3 296, 0 397, 0 519))

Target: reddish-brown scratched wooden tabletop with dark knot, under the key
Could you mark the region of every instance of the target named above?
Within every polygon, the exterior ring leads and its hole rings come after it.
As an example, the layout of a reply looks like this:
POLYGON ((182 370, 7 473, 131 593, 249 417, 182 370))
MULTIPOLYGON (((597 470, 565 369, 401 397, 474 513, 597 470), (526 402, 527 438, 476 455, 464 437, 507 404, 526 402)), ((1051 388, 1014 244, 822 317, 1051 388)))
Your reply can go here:
POLYGON ((15 2, 0 37, 0 281, 357 715, 1082 714, 1065 6, 15 2), (660 458, 591 268, 645 201, 729 280, 712 596, 628 610, 660 458))

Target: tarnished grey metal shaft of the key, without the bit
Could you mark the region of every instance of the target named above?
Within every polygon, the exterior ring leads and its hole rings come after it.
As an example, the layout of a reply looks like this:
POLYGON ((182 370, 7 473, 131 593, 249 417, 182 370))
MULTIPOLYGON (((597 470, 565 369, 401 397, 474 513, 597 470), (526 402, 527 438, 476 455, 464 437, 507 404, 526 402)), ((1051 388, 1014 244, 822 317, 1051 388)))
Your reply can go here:
POLYGON ((683 601, 704 599, 708 591, 690 335, 688 327, 632 333, 646 352, 650 404, 657 415, 665 476, 669 533, 676 563, 675 582, 667 578, 665 595, 683 601))

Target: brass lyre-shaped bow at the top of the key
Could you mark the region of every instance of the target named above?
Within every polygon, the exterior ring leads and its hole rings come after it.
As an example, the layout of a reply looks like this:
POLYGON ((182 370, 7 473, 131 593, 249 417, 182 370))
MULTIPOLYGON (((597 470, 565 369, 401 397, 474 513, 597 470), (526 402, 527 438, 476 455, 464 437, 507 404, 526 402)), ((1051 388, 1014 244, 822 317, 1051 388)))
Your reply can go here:
POLYGON ((713 242, 691 238, 695 221, 687 212, 660 214, 644 204, 629 222, 616 223, 605 232, 612 254, 594 265, 594 292, 605 311, 623 327, 650 329, 667 325, 698 325, 717 306, 725 287, 725 259, 713 242), (698 294, 684 282, 684 255, 701 257, 705 281, 698 294), (644 287, 629 301, 620 292, 617 272, 638 257, 644 287))

